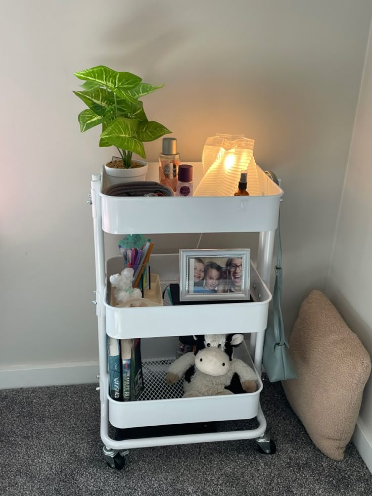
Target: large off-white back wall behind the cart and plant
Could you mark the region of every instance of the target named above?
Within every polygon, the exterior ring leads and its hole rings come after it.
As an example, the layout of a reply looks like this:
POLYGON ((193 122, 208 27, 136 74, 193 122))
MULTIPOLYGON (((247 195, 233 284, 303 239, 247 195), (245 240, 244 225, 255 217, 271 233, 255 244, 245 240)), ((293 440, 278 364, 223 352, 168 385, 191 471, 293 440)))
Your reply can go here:
MULTIPOLYGON (((303 297, 325 285, 370 16, 369 0, 8 3, 0 19, 0 366, 97 359, 85 201, 91 174, 111 155, 99 149, 98 129, 80 134, 84 106, 72 91, 73 72, 98 64, 166 83, 145 109, 173 130, 182 160, 200 160, 217 131, 256 140, 257 162, 285 189, 291 329, 303 297)), ((160 145, 146 146, 150 161, 160 145)), ((197 239, 166 237, 157 250, 197 239)), ((246 243, 205 236, 202 247, 246 243)))

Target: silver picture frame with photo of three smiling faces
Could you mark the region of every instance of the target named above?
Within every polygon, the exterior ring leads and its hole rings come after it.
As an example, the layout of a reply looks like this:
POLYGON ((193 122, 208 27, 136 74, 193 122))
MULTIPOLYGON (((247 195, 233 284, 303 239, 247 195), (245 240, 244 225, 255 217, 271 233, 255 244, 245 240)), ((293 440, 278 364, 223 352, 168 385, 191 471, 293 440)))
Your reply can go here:
POLYGON ((250 299, 251 250, 179 250, 179 300, 250 299))

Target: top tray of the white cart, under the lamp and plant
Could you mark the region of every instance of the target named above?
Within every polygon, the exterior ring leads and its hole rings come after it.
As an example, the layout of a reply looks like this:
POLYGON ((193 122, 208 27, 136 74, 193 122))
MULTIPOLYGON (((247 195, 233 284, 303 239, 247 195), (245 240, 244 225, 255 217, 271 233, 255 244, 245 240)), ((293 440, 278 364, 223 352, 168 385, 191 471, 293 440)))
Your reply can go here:
MULTIPOLYGON (((201 162, 194 166, 194 189, 203 176, 201 162)), ((113 197, 104 167, 100 182, 102 229, 110 234, 235 233, 276 229, 283 191, 258 167, 259 196, 247 197, 113 197)), ((158 163, 151 162, 146 176, 158 181, 158 163)))

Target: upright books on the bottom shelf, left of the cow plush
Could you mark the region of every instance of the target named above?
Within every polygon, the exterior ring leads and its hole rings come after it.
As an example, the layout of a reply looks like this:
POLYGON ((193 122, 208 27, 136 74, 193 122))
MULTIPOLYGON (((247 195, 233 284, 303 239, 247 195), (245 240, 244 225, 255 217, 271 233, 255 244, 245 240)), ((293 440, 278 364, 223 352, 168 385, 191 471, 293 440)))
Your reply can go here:
POLYGON ((107 336, 109 394, 116 401, 135 401, 144 390, 141 339, 107 336))

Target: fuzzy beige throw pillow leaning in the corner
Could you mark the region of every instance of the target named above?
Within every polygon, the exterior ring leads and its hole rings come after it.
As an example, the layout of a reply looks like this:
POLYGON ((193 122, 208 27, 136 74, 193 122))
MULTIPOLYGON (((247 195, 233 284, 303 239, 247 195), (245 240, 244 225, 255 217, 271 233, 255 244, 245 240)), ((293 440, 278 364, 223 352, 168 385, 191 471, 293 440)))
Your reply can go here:
POLYGON ((282 383, 288 401, 320 451, 342 460, 370 374, 369 354, 320 291, 301 305, 290 353, 298 379, 282 383))

